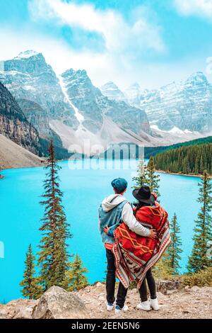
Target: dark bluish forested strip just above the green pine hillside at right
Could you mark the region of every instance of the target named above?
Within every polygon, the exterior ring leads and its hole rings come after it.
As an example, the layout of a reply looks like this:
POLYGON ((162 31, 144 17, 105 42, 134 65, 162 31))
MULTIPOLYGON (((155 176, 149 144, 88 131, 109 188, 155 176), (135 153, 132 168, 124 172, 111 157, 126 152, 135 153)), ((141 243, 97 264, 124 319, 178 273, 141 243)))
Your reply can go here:
POLYGON ((180 147, 187 147, 192 145, 202 145, 204 143, 212 143, 212 137, 202 137, 200 139, 191 140, 187 142, 180 142, 176 145, 163 146, 163 147, 146 147, 144 150, 145 158, 149 159, 151 156, 155 156, 156 154, 160 154, 160 152, 165 152, 170 149, 177 149, 180 147))

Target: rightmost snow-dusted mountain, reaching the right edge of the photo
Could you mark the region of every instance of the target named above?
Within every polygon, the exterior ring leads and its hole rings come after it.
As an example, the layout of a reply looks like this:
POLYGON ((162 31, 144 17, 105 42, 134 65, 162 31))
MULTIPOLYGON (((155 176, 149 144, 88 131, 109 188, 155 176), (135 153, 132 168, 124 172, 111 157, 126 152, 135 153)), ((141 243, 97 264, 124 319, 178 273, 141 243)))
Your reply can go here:
POLYGON ((184 82, 142 91, 138 98, 129 98, 129 103, 146 111, 153 129, 212 130, 212 85, 202 72, 184 82))

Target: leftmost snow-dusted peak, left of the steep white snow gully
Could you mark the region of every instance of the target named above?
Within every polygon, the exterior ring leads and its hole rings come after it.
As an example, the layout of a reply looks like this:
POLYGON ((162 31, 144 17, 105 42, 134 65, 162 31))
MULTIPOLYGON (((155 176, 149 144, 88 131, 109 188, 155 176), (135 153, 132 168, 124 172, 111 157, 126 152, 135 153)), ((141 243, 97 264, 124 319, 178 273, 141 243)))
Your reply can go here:
POLYGON ((40 134, 48 135, 49 119, 61 119, 77 127, 73 108, 63 94, 59 79, 41 53, 26 51, 3 63, 0 81, 23 107, 28 120, 39 114, 33 122, 40 134), (42 111, 41 111, 42 109, 42 111))

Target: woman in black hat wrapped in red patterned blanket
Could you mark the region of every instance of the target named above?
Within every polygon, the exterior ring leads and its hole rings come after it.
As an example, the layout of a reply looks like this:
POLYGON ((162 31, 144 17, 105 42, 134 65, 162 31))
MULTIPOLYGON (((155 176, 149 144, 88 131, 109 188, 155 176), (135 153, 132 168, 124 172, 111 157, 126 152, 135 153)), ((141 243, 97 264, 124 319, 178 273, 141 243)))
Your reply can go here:
POLYGON ((160 259, 165 249, 170 245, 169 223, 167 212, 156 201, 157 196, 151 193, 148 186, 142 186, 133 191, 138 204, 134 209, 136 220, 144 227, 157 232, 156 239, 141 237, 122 223, 114 232, 115 242, 113 247, 117 268, 117 278, 125 288, 133 281, 138 283, 141 303, 138 308, 149 311, 158 310, 155 280, 151 268, 160 259), (151 293, 148 302, 146 280, 151 293))

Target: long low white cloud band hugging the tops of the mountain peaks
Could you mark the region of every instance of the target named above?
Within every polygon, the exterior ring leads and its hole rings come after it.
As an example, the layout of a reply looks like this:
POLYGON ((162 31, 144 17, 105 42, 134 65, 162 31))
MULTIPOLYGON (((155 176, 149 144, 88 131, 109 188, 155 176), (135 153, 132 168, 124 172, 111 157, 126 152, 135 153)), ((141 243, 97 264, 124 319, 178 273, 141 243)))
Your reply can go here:
POLYGON ((186 79, 192 72, 205 70, 202 62, 191 59, 181 63, 141 62, 134 64, 122 59, 117 62, 110 53, 76 52, 61 40, 49 38, 49 35, 39 35, 29 29, 20 33, 11 28, 1 27, 0 30, 0 60, 16 57, 25 50, 42 52, 48 64, 51 64, 57 74, 66 69, 86 69, 95 86, 101 86, 107 81, 114 81, 120 89, 126 89, 138 81, 143 89, 154 89, 171 81, 186 79))

